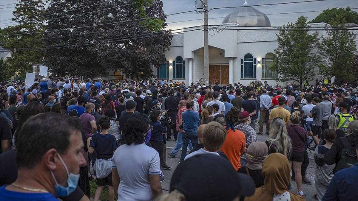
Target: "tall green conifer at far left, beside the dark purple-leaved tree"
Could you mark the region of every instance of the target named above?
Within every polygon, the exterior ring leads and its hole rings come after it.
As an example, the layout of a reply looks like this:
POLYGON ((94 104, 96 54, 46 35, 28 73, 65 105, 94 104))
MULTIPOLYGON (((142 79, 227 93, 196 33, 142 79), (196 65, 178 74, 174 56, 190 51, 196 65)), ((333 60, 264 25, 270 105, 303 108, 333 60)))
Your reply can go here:
POLYGON ((43 31, 45 28, 44 12, 45 3, 42 0, 20 0, 13 11, 15 26, 8 26, 1 31, 1 46, 11 51, 11 58, 6 62, 9 64, 7 72, 15 75, 25 75, 32 72, 32 64, 41 64, 43 51, 41 49, 26 50, 24 48, 37 48, 43 46, 42 34, 26 34, 29 32, 43 31), (15 34, 15 35, 14 35, 15 34), (22 35, 16 35, 22 34, 22 35))

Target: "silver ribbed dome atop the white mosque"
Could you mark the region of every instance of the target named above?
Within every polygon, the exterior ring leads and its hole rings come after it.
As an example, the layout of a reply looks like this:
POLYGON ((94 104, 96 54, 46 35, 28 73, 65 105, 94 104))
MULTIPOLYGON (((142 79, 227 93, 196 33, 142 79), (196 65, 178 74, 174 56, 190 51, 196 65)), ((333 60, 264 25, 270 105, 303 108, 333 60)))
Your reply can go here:
POLYGON ((236 23, 240 26, 271 26, 270 20, 261 11, 251 7, 246 0, 241 7, 228 14, 222 24, 236 23))

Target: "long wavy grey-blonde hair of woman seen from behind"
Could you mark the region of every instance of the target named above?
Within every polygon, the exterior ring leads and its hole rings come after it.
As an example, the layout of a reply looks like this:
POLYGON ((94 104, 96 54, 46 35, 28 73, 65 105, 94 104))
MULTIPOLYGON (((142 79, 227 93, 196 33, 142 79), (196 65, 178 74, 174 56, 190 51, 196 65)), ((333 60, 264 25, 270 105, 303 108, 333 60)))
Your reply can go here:
MULTIPOLYGON (((286 157, 291 152, 291 138, 288 136, 284 120, 274 118, 270 123, 269 138, 270 147, 274 146, 277 153, 281 153, 286 157)), ((269 147, 269 149, 270 149, 269 147)))

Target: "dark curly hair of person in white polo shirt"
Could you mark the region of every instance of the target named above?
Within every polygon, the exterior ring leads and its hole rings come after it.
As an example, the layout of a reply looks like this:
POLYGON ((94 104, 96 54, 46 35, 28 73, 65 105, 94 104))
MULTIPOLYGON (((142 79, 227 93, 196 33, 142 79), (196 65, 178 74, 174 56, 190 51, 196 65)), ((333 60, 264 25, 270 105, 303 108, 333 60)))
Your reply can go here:
POLYGON ((141 144, 145 141, 144 133, 148 131, 149 119, 144 114, 135 114, 127 120, 123 128, 123 142, 127 145, 141 144))

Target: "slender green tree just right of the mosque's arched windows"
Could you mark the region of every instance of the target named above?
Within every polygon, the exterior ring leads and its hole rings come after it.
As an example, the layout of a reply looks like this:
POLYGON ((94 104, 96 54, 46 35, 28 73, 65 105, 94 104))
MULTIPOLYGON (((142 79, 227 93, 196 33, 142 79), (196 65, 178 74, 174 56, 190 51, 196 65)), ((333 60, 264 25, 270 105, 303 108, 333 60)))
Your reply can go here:
POLYGON ((305 16, 300 16, 295 23, 287 26, 299 28, 280 28, 279 34, 276 34, 278 48, 274 50, 274 65, 271 70, 279 73, 278 81, 294 80, 302 87, 304 81, 314 78, 319 65, 319 56, 314 53, 318 32, 308 33, 309 26, 305 16))

